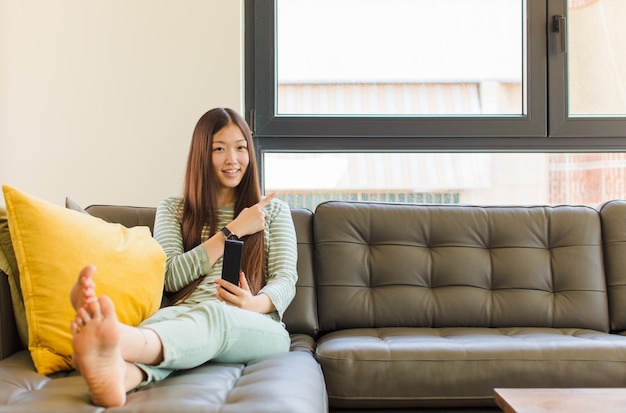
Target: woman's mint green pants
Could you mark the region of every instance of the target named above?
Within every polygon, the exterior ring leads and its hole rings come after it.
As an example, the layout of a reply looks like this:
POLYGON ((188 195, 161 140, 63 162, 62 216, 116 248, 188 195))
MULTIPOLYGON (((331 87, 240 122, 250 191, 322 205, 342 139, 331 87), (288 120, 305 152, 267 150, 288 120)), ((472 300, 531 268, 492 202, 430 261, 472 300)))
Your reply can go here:
POLYGON ((209 360, 248 363, 284 353, 291 342, 280 321, 217 300, 162 308, 140 327, 156 332, 163 343, 161 364, 137 364, 147 375, 142 385, 209 360))

